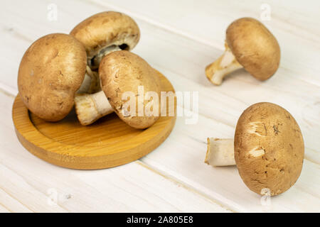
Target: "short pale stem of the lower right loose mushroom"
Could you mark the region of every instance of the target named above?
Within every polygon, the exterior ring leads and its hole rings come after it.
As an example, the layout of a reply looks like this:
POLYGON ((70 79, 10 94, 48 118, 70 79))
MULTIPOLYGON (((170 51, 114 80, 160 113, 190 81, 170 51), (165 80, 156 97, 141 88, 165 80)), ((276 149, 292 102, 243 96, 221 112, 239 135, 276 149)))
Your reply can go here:
POLYGON ((212 166, 235 165, 233 139, 208 138, 205 162, 212 166))

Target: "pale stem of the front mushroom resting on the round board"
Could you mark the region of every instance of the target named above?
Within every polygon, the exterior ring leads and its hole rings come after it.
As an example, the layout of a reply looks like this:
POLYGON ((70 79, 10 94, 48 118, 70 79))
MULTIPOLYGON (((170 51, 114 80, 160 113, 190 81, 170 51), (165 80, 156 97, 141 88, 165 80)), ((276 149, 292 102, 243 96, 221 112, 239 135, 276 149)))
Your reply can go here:
POLYGON ((113 112, 105 92, 100 91, 95 94, 76 94, 75 112, 82 126, 90 125, 97 119, 113 112))

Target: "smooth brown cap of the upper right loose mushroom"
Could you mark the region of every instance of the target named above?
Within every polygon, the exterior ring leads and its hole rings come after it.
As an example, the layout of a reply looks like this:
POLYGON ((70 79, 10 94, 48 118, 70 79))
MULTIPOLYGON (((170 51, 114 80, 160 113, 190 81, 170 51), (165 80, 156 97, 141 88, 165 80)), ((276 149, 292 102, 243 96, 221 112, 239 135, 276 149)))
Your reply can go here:
POLYGON ((274 35, 254 18, 240 18, 230 24, 226 42, 235 59, 257 79, 265 80, 277 71, 280 48, 274 35))

